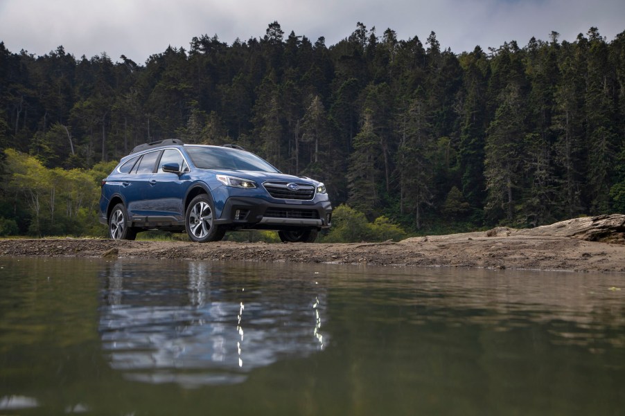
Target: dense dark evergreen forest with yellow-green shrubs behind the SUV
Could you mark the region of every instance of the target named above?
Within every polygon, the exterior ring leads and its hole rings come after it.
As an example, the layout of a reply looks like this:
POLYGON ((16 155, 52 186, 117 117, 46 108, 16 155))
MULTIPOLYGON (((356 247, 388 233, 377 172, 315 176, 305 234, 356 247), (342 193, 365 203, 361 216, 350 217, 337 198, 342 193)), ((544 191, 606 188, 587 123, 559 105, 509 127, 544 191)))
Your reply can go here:
POLYGON ((358 23, 326 46, 274 21, 143 64, 0 42, 0 235, 103 235, 100 180, 164 138, 323 181, 344 232, 355 217, 418 234, 625 212, 625 32, 558 37, 455 53, 358 23))

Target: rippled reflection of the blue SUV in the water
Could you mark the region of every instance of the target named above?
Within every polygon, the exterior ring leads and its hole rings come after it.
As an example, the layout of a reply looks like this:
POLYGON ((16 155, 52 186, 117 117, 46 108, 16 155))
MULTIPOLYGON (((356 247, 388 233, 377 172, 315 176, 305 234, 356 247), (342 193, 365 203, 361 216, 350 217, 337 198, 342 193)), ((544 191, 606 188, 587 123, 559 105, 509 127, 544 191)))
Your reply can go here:
POLYGON ((164 271, 118 261, 104 276, 100 336, 127 379, 237 383, 281 357, 324 348, 319 287, 285 290, 249 276, 245 283, 210 263, 186 264, 164 271))

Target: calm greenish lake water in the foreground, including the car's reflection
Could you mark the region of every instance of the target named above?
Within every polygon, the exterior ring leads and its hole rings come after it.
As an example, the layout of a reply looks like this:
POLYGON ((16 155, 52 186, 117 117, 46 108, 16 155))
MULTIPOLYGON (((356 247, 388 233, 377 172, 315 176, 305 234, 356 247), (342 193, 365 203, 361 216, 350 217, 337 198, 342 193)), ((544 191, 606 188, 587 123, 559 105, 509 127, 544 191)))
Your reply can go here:
POLYGON ((624 415, 625 275, 0 257, 0 415, 624 415))

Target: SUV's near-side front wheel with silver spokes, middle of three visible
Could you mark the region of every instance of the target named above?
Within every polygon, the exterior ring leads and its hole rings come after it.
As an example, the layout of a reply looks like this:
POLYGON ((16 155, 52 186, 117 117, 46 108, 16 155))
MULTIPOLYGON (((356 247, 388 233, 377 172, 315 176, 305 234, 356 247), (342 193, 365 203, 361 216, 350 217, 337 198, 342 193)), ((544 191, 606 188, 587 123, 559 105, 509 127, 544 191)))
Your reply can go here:
POLYGON ((213 203, 208 195, 202 194, 191 200, 184 215, 184 227, 189 238, 194 242, 205 243, 219 241, 226 230, 215 226, 213 203))

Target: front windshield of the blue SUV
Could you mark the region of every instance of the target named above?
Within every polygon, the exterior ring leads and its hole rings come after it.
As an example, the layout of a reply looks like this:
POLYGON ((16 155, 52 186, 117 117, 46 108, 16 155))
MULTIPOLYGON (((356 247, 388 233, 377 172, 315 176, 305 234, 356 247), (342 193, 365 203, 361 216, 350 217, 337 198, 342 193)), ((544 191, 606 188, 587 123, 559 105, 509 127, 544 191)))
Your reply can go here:
POLYGON ((202 169, 251 170, 278 173, 272 165, 255 154, 227 147, 185 146, 193 165, 202 169))

